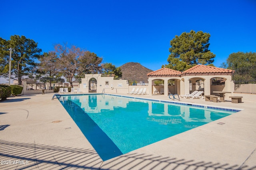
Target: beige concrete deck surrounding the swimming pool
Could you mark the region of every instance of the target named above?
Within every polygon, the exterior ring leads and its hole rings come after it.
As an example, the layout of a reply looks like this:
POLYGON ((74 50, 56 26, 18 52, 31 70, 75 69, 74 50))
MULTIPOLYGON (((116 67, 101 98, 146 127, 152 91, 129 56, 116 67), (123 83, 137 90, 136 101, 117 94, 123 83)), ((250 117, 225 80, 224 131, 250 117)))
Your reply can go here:
MULTIPOLYGON (((256 170, 256 102, 181 98, 244 110, 102 161, 61 103, 51 100, 53 95, 0 102, 0 169, 256 170)), ((170 100, 164 95, 140 97, 170 100)))

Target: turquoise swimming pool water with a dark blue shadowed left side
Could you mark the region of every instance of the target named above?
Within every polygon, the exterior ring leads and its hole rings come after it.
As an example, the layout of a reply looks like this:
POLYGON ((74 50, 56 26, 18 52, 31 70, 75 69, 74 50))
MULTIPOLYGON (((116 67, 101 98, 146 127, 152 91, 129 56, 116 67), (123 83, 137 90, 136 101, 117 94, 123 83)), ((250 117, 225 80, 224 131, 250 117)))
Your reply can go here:
POLYGON ((61 96, 59 100, 102 160, 238 111, 104 94, 61 96))

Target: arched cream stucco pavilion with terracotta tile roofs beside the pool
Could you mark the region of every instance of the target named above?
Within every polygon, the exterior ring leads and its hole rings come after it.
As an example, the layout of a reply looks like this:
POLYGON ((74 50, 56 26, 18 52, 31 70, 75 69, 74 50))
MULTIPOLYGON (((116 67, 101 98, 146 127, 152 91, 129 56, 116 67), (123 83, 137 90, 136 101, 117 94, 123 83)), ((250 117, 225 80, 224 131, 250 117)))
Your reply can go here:
MULTIPOLYGON (((234 92, 232 81, 233 70, 214 66, 196 65, 184 72, 161 68, 148 73, 149 95, 162 91, 164 95, 189 94, 194 90, 204 91, 204 95, 214 94, 213 91, 234 92), (161 86, 155 81, 163 81, 161 86)), ((228 94, 227 94, 228 96, 228 94)), ((231 96, 231 94, 230 94, 231 96)))

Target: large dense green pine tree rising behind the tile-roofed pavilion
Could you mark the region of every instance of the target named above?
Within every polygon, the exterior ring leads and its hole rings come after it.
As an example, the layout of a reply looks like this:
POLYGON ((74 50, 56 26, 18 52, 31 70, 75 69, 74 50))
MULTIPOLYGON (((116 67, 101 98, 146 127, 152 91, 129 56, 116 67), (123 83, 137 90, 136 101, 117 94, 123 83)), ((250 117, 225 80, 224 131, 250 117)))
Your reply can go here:
POLYGON ((209 39, 210 34, 202 31, 191 30, 190 33, 176 35, 170 41, 170 55, 167 59, 169 64, 162 67, 182 72, 197 64, 213 66, 215 55, 208 49, 209 39))

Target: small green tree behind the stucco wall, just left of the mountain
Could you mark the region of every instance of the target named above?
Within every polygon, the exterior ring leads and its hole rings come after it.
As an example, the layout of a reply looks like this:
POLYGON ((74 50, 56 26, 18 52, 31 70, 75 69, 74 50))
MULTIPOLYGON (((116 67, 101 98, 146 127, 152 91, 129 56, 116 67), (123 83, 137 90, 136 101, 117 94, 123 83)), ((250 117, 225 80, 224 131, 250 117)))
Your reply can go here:
POLYGON ((121 67, 116 67, 112 63, 104 63, 101 65, 102 74, 105 76, 114 76, 114 79, 119 79, 122 77, 121 67))

